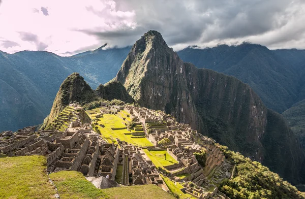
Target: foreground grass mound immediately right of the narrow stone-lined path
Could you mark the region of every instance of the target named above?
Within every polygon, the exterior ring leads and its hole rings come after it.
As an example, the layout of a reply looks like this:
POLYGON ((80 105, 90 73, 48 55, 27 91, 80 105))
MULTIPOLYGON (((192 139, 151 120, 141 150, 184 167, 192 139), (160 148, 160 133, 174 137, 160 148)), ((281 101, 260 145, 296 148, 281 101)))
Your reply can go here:
POLYGON ((87 181, 80 172, 61 171, 50 174, 50 178, 58 189, 60 198, 109 198, 101 189, 87 181))

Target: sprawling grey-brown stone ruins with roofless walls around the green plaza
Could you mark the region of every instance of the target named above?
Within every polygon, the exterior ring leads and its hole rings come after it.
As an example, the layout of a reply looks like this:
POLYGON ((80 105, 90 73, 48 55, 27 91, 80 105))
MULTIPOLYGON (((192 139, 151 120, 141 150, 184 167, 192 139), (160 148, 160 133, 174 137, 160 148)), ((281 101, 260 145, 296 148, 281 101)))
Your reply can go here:
MULTIPOLYGON (((82 109, 78 104, 69 105, 82 109)), ((176 122, 175 118, 162 111, 152 111, 134 106, 109 106, 105 104, 100 109, 98 118, 103 114, 118 114, 126 111, 132 121, 136 122, 139 132, 143 134, 154 147, 142 147, 147 150, 164 150, 158 144, 164 138, 170 140, 167 153, 178 163, 164 167, 168 171, 167 177, 184 183, 182 191, 196 198, 209 198, 217 195, 225 198, 218 192, 217 187, 208 192, 201 187, 207 183, 205 176, 220 168, 224 162, 224 155, 215 141, 204 137, 193 130, 189 124, 176 122), (197 144, 199 143, 199 144, 197 144), (195 152, 206 151, 205 165, 200 165, 195 152), (176 177, 189 174, 185 179, 176 177)), ((118 114, 119 116, 119 114, 118 114)), ((125 120, 122 115, 121 119, 125 120)), ((135 130, 136 131, 136 130, 135 130)), ((136 136, 136 135, 133 135, 136 136)), ((130 145, 118 139, 116 145, 107 143, 93 130, 89 123, 80 121, 71 122, 65 131, 40 130, 26 127, 13 133, 4 131, 0 134, 0 152, 9 156, 44 155, 47 158, 47 167, 50 172, 62 170, 79 171, 87 177, 106 177, 115 179, 117 167, 123 167, 121 184, 141 185, 156 184, 169 192, 157 168, 141 147, 130 145)))

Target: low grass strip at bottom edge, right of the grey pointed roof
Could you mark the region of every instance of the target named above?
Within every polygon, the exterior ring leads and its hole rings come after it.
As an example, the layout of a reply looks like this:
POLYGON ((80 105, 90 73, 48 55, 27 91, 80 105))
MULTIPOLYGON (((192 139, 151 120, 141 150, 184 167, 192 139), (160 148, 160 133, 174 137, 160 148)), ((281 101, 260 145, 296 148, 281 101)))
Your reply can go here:
POLYGON ((114 199, 174 199, 171 194, 162 190, 154 184, 148 185, 135 185, 128 187, 115 187, 109 189, 103 189, 103 191, 114 199))

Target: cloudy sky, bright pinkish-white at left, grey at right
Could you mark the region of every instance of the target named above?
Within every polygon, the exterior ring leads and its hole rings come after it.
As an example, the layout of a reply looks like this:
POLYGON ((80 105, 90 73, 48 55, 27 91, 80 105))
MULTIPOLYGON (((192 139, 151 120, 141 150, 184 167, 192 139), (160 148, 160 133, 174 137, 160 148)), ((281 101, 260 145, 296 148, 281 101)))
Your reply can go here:
POLYGON ((0 0, 0 50, 68 56, 161 32, 180 50, 243 41, 305 49, 305 0, 0 0))

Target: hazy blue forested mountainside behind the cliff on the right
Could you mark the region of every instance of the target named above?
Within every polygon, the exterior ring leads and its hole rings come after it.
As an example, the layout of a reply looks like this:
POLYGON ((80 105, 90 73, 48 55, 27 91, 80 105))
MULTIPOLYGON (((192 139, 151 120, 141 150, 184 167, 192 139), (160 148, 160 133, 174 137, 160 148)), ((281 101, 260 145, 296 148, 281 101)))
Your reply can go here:
POLYGON ((198 68, 212 69, 248 83, 268 108, 279 113, 305 98, 305 51, 273 51, 243 43, 206 49, 189 47, 177 53, 198 68))

